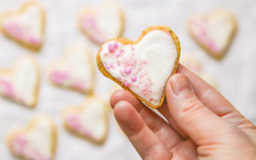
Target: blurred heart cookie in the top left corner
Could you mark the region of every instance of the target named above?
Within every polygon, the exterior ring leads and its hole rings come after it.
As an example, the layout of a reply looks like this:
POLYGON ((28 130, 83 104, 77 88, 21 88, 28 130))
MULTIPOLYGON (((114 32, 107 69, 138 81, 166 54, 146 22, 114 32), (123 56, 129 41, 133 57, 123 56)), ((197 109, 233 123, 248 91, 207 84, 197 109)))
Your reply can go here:
POLYGON ((1 16, 1 31, 28 49, 41 48, 44 36, 44 9, 38 3, 24 3, 20 10, 1 16))

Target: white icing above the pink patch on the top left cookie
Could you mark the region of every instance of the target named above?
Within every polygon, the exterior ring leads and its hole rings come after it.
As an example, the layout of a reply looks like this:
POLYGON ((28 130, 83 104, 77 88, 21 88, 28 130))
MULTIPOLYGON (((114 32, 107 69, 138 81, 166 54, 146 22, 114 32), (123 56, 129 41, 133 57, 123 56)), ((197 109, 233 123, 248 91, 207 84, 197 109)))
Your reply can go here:
POLYGON ((43 21, 37 6, 31 5, 22 14, 10 16, 3 20, 3 26, 10 23, 18 24, 26 34, 41 40, 43 21))

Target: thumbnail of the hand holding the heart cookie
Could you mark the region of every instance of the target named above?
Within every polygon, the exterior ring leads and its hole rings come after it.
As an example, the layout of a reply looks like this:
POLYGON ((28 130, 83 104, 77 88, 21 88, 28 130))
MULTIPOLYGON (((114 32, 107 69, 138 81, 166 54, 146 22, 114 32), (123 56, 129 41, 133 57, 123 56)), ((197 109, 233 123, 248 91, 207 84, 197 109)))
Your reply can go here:
POLYGON ((183 93, 184 90, 191 89, 188 78, 179 73, 172 75, 169 85, 171 85, 172 92, 176 95, 183 93))

